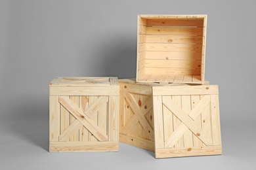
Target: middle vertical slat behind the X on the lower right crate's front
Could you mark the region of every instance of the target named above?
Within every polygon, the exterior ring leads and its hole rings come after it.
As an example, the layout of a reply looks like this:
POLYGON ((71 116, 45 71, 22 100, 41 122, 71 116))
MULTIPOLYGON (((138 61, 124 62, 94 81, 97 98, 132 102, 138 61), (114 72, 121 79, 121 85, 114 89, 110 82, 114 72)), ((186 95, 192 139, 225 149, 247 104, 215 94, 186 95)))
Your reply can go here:
MULTIPOLYGON (((190 95, 182 95, 182 110, 186 112, 186 114, 190 114, 191 111, 191 98, 190 95)), ((193 133, 190 130, 187 130, 184 133, 184 147, 192 147, 193 146, 193 133)))

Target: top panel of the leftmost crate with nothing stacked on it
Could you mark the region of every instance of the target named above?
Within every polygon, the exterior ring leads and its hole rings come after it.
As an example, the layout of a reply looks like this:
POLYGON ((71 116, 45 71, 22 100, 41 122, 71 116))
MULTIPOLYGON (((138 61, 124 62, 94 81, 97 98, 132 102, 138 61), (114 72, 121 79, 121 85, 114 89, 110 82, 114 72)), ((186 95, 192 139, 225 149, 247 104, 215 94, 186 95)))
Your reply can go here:
POLYGON ((119 86, 119 82, 117 77, 55 77, 49 86, 108 87, 119 86))

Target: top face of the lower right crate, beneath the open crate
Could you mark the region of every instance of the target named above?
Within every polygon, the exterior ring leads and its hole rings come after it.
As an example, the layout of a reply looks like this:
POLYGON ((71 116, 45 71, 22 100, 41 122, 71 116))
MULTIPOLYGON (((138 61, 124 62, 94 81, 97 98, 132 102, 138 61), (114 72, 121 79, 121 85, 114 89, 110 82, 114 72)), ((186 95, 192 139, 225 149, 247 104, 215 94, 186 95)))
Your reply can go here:
MULTIPOLYGON (((184 84, 184 83, 173 83, 173 82, 163 82, 163 83, 158 83, 158 82, 136 82, 136 78, 127 78, 127 79, 119 79, 119 83, 123 84, 135 84, 139 86, 157 86, 157 87, 162 87, 162 86, 198 86, 198 84, 184 84)), ((205 81, 203 85, 209 85, 209 81, 205 81)))

